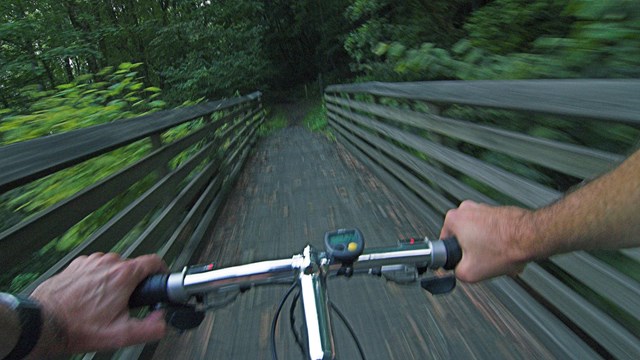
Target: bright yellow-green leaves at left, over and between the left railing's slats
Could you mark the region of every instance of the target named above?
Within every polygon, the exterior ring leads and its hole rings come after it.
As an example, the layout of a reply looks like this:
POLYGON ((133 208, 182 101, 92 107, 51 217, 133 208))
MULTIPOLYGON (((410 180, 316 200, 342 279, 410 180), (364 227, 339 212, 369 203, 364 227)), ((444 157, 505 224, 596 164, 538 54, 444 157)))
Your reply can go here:
MULTIPOLYGON (((140 64, 123 63, 105 68, 96 75, 77 77, 55 90, 27 92, 32 104, 0 120, 3 144, 62 133, 83 127, 117 121, 156 111, 163 103, 154 100, 160 90, 145 87, 136 69, 140 64)), ((150 144, 138 142, 109 152, 72 168, 29 183, 2 199, 2 208, 15 217, 24 217, 48 208, 148 153, 150 144), (17 215, 21 214, 21 215, 17 215)), ((111 201, 58 239, 59 250, 74 246, 106 219, 115 215, 125 198, 143 189, 138 184, 131 192, 111 201)), ((130 200, 130 199, 129 199, 130 200)), ((11 225, 11 222, 5 226, 11 225)))

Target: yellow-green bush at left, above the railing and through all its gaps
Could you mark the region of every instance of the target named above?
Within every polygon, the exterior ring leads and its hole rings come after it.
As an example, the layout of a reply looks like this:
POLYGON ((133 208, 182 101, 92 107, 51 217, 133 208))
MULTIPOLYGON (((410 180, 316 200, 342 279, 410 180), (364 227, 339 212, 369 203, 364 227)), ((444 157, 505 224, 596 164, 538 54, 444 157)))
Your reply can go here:
MULTIPOLYGON (((30 100, 29 106, 4 109, 5 116, 0 121, 0 143, 8 145, 163 109, 165 102, 159 100, 161 90, 145 86, 143 79, 138 76, 137 70, 141 65, 122 63, 117 67, 107 67, 95 75, 77 77, 71 83, 60 84, 46 91, 26 87, 23 96, 30 100)), ((186 102, 184 105, 193 103, 186 102)), ((202 120, 195 120, 175 127, 163 134, 163 140, 175 141, 202 125, 202 120)), ((196 144, 179 154, 170 166, 177 167, 197 147, 196 144)), ((151 149, 149 140, 140 140, 0 195, 0 231, 114 174, 147 155, 151 149)), ((2 274, 0 286, 12 291, 20 290, 138 198, 152 185, 156 176, 149 174, 34 254, 32 264, 38 266, 30 266, 29 272, 16 276, 20 272, 20 269, 16 269, 15 272, 2 274)))

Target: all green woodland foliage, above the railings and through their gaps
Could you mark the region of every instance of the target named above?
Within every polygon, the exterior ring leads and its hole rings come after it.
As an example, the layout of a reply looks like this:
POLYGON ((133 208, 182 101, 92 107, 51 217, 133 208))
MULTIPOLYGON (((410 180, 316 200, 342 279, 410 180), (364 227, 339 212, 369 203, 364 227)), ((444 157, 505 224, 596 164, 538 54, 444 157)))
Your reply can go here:
MULTIPOLYGON (((636 0, 0 0, 0 145, 254 90, 283 101, 303 87, 305 97, 319 97, 317 89, 352 81, 638 77, 636 0)), ((425 104, 378 100, 431 111, 425 104)), ((312 107, 303 123, 328 132, 325 111, 312 107)), ((631 151, 640 135, 628 125, 470 107, 442 114, 618 154, 631 151)), ((268 117, 262 136, 289 125, 286 113, 268 117)), ((204 124, 184 124, 162 140, 175 141, 204 124)), ((581 180, 455 139, 435 140, 558 190, 581 180)), ((0 231, 151 149, 140 141, 0 194, 0 231)), ((184 151, 170 167, 198 149, 184 151)), ((51 266, 154 176, 81 221, 34 261, 51 266)), ((2 276, 2 285, 13 279, 2 276)), ((34 276, 19 275, 12 289, 34 276)))

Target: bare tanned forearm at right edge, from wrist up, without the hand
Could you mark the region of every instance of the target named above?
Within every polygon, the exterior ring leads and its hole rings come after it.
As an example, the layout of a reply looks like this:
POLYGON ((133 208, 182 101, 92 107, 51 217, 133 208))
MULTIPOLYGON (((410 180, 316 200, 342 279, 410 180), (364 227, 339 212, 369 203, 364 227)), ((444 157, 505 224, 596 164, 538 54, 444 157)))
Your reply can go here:
POLYGON ((531 215, 530 259, 640 245, 640 151, 614 171, 531 215))

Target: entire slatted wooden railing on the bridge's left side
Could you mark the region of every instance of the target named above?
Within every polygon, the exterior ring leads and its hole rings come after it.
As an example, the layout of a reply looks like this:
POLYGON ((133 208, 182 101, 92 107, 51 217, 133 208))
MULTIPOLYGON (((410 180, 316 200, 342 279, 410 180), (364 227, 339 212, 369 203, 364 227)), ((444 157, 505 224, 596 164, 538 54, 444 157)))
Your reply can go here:
POLYGON ((130 196, 121 211, 23 292, 31 292, 73 258, 116 245, 122 256, 158 253, 173 269, 181 268, 224 204, 263 121, 261 94, 256 92, 1 147, 0 194, 19 194, 24 185, 132 143, 146 145, 149 151, 0 233, 0 272, 33 269, 34 253, 143 180, 147 185, 140 194, 130 196), (179 126, 183 134, 167 141, 164 134, 179 126), (178 156, 181 161, 176 164, 178 156), (132 237, 134 229, 139 235, 132 237))

